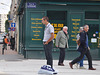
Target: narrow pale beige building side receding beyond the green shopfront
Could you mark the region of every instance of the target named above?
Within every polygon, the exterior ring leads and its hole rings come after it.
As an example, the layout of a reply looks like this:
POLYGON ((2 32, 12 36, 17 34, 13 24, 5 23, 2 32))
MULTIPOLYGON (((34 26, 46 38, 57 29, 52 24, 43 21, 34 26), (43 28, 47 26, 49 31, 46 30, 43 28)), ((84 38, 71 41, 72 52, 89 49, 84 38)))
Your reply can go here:
POLYGON ((13 28, 11 27, 11 23, 15 23, 15 30, 10 30, 9 31, 9 38, 11 36, 13 36, 15 38, 15 50, 18 51, 19 47, 19 20, 18 20, 18 15, 17 15, 17 9, 19 7, 19 3, 20 3, 21 0, 12 0, 11 2, 11 6, 10 6, 10 13, 9 13, 9 25, 10 25, 10 28, 13 28))

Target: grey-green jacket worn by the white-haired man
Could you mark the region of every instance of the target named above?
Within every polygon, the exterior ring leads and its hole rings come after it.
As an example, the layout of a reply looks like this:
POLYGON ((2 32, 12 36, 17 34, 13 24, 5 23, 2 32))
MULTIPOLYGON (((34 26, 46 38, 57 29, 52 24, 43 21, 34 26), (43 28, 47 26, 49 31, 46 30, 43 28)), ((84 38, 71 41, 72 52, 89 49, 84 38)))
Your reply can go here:
POLYGON ((68 48, 68 39, 69 39, 68 34, 66 36, 63 30, 59 31, 56 36, 56 46, 58 46, 59 48, 65 48, 65 47, 68 48))

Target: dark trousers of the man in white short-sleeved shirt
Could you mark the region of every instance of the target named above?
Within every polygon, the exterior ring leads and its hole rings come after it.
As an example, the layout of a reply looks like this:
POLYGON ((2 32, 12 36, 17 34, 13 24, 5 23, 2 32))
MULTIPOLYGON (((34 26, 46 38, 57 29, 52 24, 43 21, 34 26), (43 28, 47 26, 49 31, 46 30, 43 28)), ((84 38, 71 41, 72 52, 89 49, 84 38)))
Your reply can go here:
POLYGON ((53 41, 44 45, 45 56, 47 60, 47 65, 53 67, 53 59, 52 59, 52 49, 53 49, 53 41))

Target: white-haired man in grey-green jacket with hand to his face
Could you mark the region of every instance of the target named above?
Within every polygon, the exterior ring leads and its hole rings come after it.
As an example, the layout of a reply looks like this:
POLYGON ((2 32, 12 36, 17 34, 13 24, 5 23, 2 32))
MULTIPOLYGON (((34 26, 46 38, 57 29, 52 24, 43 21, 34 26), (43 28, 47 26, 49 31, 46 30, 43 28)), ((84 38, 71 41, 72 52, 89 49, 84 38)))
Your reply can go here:
POLYGON ((60 49, 60 56, 59 56, 59 66, 64 66, 63 62, 65 59, 65 49, 68 48, 68 27, 64 26, 63 30, 59 31, 56 36, 56 47, 60 49))

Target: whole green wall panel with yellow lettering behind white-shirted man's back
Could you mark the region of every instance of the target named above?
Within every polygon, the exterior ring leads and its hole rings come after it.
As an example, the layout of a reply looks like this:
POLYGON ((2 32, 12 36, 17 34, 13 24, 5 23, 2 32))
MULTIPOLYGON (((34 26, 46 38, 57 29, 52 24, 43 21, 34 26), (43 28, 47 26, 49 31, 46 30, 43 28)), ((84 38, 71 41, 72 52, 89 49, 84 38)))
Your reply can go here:
POLYGON ((44 25, 42 24, 43 12, 31 12, 30 14, 30 47, 43 46, 44 25))

